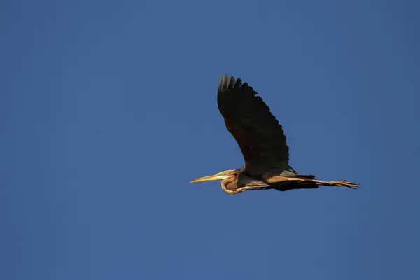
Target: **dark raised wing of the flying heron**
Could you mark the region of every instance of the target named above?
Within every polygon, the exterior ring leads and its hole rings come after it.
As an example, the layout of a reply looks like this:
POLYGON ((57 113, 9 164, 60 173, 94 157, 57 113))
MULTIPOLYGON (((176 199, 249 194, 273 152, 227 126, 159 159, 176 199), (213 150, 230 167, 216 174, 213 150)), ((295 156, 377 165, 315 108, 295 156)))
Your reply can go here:
POLYGON ((288 167, 283 128, 252 87, 239 78, 222 76, 217 102, 226 127, 241 148, 248 174, 262 176, 268 170, 288 167))

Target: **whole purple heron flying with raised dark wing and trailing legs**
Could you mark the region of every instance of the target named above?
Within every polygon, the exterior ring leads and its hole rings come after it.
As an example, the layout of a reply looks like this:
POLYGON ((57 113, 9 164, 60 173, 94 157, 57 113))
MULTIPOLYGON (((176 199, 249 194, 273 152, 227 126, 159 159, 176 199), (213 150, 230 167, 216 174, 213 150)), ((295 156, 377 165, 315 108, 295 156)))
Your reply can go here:
POLYGON ((218 109, 228 131, 236 139, 245 165, 190 182, 222 180, 222 189, 231 195, 245 190, 314 189, 319 186, 358 188, 347 180, 320 181, 313 175, 299 174, 288 165, 289 148, 279 121, 247 83, 228 75, 218 85, 218 109))

